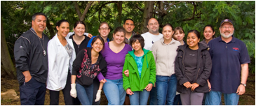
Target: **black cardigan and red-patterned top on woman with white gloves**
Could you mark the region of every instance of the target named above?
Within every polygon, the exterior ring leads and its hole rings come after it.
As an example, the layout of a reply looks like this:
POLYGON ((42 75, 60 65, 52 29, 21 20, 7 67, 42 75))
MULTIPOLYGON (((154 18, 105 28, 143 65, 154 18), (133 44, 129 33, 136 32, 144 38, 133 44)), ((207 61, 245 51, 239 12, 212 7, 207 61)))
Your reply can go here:
POLYGON ((107 74, 107 62, 100 52, 96 63, 91 64, 91 49, 91 47, 86 47, 81 50, 73 62, 72 75, 76 75, 76 82, 82 86, 93 84, 93 79, 99 73, 103 76, 107 74))

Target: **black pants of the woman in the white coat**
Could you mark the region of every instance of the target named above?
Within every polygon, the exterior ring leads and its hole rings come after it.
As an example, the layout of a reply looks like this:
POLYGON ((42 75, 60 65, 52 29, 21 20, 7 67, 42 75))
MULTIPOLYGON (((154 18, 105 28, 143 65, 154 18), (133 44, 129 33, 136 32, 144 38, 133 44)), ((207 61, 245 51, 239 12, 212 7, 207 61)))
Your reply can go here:
MULTIPOLYGON (((74 98, 70 96, 70 90, 71 90, 71 74, 68 73, 66 86, 64 89, 62 89, 65 105, 74 105, 73 103, 74 98)), ((59 105, 59 96, 60 96, 60 91, 50 90, 50 105, 59 105)))

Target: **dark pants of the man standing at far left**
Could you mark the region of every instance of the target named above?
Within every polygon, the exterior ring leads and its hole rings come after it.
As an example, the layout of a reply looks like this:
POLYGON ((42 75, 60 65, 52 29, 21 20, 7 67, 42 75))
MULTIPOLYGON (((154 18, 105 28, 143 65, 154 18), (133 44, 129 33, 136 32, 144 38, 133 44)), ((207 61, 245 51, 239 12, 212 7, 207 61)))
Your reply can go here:
POLYGON ((20 105, 44 105, 45 96, 46 83, 38 82, 33 77, 20 85, 20 105))

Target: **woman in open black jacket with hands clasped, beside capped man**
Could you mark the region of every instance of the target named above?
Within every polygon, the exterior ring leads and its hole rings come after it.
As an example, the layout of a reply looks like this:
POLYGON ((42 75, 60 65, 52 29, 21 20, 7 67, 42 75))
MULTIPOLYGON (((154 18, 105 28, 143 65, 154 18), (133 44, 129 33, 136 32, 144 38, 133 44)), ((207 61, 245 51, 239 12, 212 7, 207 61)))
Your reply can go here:
POLYGON ((187 35, 187 44, 177 49, 175 73, 182 105, 202 105, 203 93, 209 92, 207 79, 210 77, 212 60, 208 47, 199 40, 199 32, 191 30, 187 35))

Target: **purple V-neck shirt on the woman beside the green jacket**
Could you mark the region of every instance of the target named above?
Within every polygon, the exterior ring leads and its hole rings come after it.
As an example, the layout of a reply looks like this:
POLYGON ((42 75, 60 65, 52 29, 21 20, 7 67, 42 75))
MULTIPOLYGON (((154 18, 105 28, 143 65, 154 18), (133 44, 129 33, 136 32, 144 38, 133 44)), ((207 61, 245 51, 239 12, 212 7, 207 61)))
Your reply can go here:
POLYGON ((105 49, 101 53, 107 61, 106 79, 120 79, 123 77, 123 64, 129 51, 132 51, 132 47, 128 44, 119 53, 115 53, 109 48, 108 43, 105 43, 105 49))

